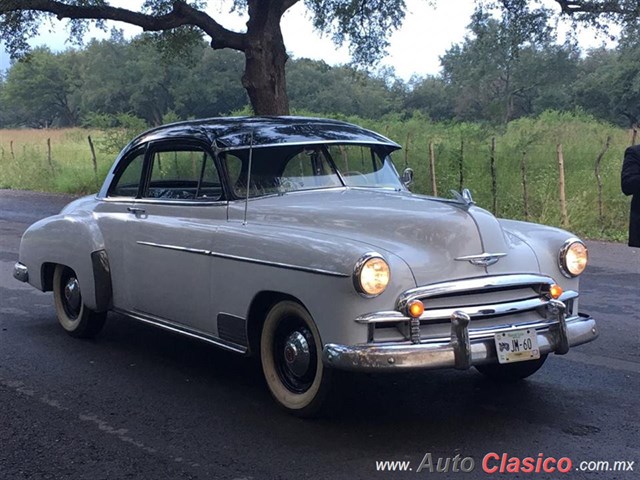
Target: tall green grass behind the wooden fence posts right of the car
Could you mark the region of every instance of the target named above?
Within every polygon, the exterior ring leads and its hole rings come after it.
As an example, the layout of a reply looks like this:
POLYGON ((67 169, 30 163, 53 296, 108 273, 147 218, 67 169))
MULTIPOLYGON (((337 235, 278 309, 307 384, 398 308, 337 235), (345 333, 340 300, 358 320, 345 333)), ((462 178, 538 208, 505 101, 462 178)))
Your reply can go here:
POLYGON ((621 240, 626 236, 629 199, 620 192, 620 168, 629 145, 626 130, 596 120, 582 111, 547 111, 495 129, 477 123, 432 122, 420 113, 405 120, 343 118, 379 131, 403 145, 394 154, 398 170, 405 166, 416 174, 412 190, 432 194, 429 149, 433 144, 440 196, 459 189, 460 157, 463 186, 471 189, 479 206, 493 209, 490 156, 496 142, 497 210, 499 217, 562 226, 556 149, 562 144, 569 212, 568 229, 587 238, 621 240), (609 149, 601 162, 603 218, 598 212, 595 161, 607 137, 609 149), (462 151, 462 154, 461 154, 462 151), (525 161, 528 216, 524 212, 522 161, 525 161))

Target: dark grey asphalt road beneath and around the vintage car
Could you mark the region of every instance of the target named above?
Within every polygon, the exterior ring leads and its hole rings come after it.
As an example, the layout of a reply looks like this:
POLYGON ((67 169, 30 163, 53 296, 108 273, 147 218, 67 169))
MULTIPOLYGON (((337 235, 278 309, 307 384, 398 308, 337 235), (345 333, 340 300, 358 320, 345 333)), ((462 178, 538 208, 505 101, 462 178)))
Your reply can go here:
POLYGON ((489 478, 490 453, 572 461, 567 474, 500 478, 638 478, 639 250, 588 243, 580 303, 600 338, 529 380, 343 375, 340 408, 305 421, 272 403, 251 360, 117 315, 95 340, 66 335, 51 294, 11 269, 22 232, 67 201, 0 191, 0 479, 489 478), (418 472, 426 454, 475 468, 418 472), (387 460, 412 470, 377 472, 387 460), (634 470, 577 470, 588 461, 634 470))

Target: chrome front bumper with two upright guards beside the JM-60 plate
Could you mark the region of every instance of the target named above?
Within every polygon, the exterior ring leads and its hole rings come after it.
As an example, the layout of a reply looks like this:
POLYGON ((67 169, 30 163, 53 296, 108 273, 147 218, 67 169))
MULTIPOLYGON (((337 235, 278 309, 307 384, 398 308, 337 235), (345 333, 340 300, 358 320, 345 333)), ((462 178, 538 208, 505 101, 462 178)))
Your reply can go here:
MULTIPOLYGON (((587 343, 598 336, 593 318, 579 314, 565 318, 565 306, 551 301, 550 312, 557 321, 536 325, 540 354, 555 352, 562 355, 569 347, 587 343)), ((511 325, 500 331, 518 330, 529 325, 511 325)), ((330 367, 353 371, 391 371, 410 369, 457 368, 497 362, 494 334, 469 337, 469 317, 462 312, 451 315, 451 338, 446 341, 423 343, 390 343, 366 345, 327 344, 323 350, 324 363, 330 367)))

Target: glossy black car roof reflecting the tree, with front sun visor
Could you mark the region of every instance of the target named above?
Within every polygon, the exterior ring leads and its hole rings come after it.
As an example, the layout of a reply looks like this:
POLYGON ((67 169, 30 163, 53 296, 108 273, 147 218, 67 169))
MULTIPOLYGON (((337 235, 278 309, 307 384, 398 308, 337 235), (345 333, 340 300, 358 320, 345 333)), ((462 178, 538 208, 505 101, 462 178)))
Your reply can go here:
POLYGON ((220 117, 172 123, 149 130, 130 144, 172 137, 200 137, 223 150, 313 143, 365 143, 400 146, 388 138, 339 120, 313 117, 220 117))

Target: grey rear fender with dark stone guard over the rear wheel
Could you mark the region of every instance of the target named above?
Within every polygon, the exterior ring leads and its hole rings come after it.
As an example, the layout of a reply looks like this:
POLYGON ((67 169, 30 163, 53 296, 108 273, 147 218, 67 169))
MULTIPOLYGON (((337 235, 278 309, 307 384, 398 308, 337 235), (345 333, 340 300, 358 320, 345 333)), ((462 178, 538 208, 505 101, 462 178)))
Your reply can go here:
POLYGON ((34 223, 22 236, 19 255, 30 272, 29 283, 35 288, 50 290, 47 275, 51 269, 47 266, 66 265, 76 272, 87 307, 96 311, 108 308, 109 261, 102 233, 91 212, 61 213, 34 223))

